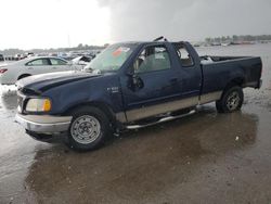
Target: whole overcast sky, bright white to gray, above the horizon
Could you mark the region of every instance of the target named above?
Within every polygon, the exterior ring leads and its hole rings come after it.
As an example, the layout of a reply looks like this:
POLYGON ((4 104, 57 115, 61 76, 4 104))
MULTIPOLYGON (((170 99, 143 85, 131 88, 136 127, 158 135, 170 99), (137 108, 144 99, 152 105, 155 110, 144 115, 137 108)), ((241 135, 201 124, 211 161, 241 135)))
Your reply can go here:
POLYGON ((271 0, 1 0, 0 49, 271 34, 271 0))

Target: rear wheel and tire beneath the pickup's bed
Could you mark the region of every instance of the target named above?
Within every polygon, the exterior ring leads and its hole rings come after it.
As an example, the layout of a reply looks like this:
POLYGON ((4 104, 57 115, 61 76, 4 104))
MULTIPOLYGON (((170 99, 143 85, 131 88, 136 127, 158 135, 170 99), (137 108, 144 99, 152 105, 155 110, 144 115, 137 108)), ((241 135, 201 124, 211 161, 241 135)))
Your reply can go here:
POLYGON ((244 101, 243 89, 238 86, 227 89, 221 99, 216 101, 219 113, 231 113, 242 107, 244 101))

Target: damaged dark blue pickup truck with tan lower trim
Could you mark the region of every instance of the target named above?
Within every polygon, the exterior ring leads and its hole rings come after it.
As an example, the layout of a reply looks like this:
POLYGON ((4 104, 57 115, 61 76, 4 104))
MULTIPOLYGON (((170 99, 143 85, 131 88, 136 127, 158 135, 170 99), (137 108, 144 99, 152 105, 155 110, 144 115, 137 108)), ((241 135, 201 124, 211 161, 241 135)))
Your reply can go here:
POLYGON ((16 120, 46 141, 66 135, 76 150, 93 150, 125 128, 139 128, 216 102, 240 110, 243 88, 259 89, 262 63, 251 56, 198 56, 185 41, 107 47, 82 72, 31 76, 17 82, 16 120))

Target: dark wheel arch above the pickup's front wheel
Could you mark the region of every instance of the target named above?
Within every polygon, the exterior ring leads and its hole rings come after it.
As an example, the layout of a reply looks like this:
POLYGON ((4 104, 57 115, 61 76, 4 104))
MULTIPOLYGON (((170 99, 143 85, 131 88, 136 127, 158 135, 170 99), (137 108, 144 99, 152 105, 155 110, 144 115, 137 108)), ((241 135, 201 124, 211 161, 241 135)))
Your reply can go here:
POLYGON ((88 103, 80 103, 77 105, 74 105, 69 107, 64 115, 70 115, 76 109, 82 107, 82 106, 94 106, 103 111, 106 116, 109 118, 111 123, 115 126, 116 125, 116 116, 114 111, 105 103, 101 102, 88 102, 88 103))

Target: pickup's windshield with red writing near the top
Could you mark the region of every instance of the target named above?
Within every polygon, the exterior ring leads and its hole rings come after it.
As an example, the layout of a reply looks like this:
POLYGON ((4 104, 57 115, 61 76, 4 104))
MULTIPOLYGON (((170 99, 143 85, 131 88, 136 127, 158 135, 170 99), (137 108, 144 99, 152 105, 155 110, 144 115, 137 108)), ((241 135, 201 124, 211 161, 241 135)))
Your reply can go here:
POLYGON ((125 61, 130 56, 134 50, 136 44, 117 43, 109 46, 93 59, 85 69, 114 72, 118 71, 125 61))

